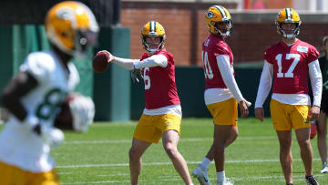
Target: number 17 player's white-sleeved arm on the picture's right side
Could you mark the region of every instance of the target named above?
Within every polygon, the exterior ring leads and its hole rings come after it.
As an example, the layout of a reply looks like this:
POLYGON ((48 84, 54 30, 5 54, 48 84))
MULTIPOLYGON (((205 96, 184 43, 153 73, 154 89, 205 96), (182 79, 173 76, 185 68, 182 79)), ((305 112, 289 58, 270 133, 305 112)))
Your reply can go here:
POLYGON ((323 93, 323 76, 318 60, 309 63, 308 67, 311 86, 313 89, 313 107, 309 111, 309 116, 311 120, 314 120, 320 114, 320 104, 323 93))

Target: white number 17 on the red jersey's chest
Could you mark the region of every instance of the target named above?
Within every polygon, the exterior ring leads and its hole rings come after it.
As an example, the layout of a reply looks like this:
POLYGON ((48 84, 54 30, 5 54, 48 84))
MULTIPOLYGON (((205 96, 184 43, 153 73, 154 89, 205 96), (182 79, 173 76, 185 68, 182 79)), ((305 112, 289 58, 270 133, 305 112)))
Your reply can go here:
POLYGON ((292 61, 291 67, 289 67, 287 73, 282 73, 282 54, 278 54, 276 56, 277 64, 278 64, 278 73, 277 77, 293 77, 293 69, 296 67, 297 63, 300 61, 300 54, 287 54, 286 59, 289 60, 291 58, 294 58, 292 61))

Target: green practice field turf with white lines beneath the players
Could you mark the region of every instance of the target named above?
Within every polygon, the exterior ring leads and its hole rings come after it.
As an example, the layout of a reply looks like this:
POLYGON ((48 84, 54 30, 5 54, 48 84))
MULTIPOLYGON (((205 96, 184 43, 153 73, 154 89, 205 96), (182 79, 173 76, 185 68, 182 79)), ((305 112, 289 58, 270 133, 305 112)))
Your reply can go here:
MULTIPOLYGON (((137 122, 95 123, 87 133, 66 132, 66 141, 52 150, 62 184, 129 184, 128 149, 137 122)), ((210 118, 183 118, 179 151, 193 170, 210 149, 213 125, 210 118)), ((239 138, 226 151, 226 176, 236 185, 285 184, 279 163, 279 145, 271 119, 240 118, 239 138)), ((294 185, 306 184, 300 151, 293 135, 294 185)), ((139 184, 184 184, 174 170, 162 143, 152 145, 143 156, 139 184)), ((328 185, 321 174, 321 160, 313 144, 313 174, 328 185)), ((209 176, 215 185, 214 163, 209 176)), ((192 178, 195 185, 198 181, 192 178)))

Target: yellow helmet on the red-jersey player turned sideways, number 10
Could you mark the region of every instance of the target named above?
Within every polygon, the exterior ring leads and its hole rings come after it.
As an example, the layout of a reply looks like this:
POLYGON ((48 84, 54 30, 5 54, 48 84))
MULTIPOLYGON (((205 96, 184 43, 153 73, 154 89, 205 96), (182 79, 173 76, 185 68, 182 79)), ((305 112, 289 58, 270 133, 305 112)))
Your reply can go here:
POLYGON ((220 36, 230 36, 231 35, 231 15, 228 10, 221 5, 210 6, 205 15, 205 23, 208 26, 210 33, 214 35, 220 34, 220 36), (228 29, 225 33, 221 32, 217 28, 216 24, 220 22, 228 23, 228 29))

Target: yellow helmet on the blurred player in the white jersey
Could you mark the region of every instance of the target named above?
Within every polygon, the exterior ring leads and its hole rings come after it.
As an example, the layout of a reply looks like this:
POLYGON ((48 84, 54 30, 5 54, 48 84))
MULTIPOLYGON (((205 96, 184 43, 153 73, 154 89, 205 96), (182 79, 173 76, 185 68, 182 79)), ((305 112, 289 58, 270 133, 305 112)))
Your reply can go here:
POLYGON ((46 14, 46 36, 70 56, 78 57, 97 41, 99 27, 91 10, 79 2, 54 5, 46 14))

